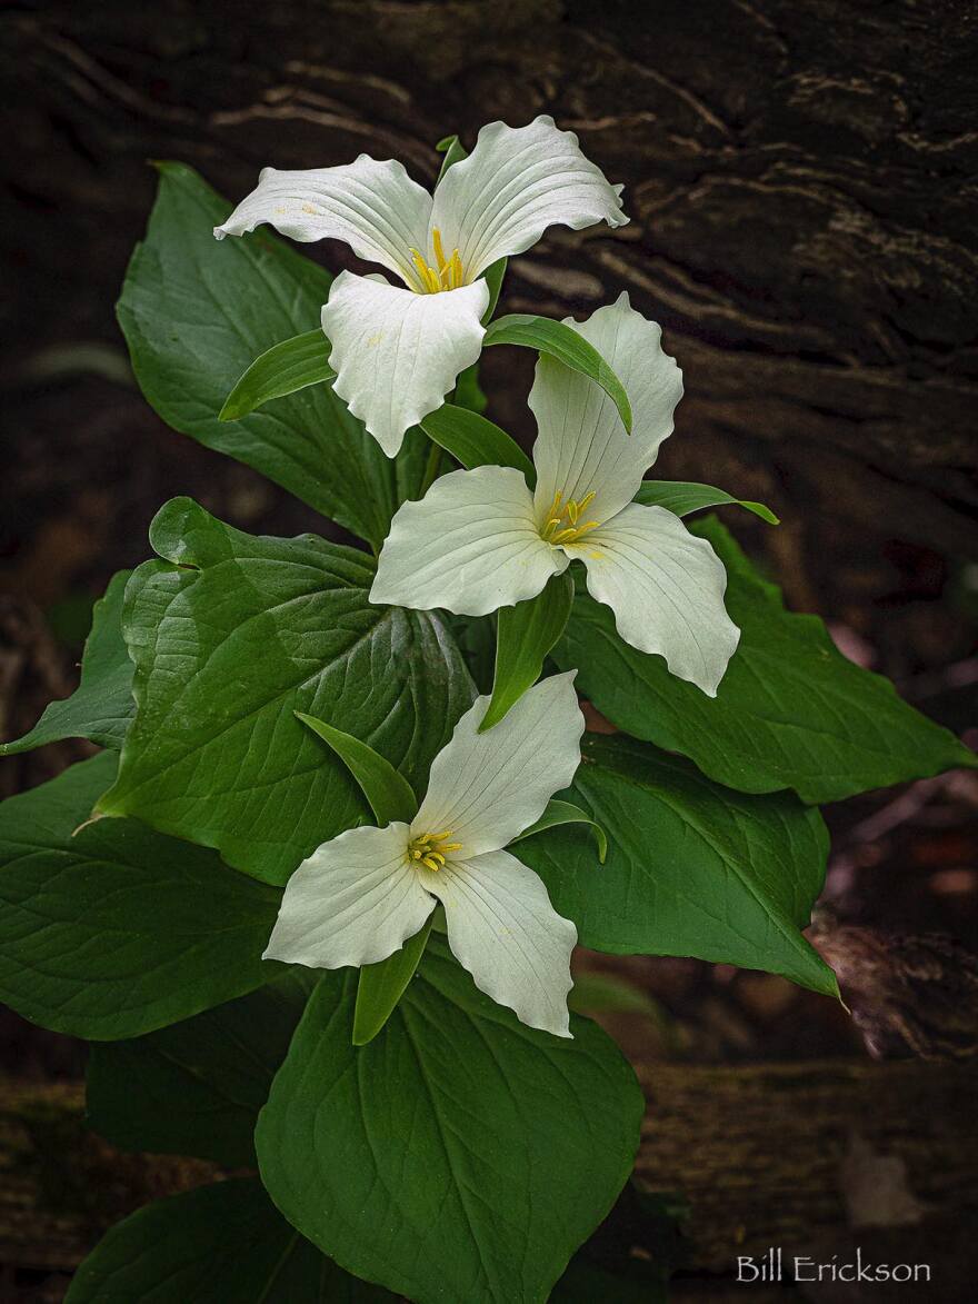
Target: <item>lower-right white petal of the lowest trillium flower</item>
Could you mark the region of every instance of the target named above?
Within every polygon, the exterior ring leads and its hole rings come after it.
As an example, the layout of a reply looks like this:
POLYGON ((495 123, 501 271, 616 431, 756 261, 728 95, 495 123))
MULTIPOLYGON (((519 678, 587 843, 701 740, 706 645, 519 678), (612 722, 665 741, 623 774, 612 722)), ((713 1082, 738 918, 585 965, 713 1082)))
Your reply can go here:
POLYGON ((445 906, 449 945, 476 987, 531 1028, 570 1037, 567 992, 578 930, 509 852, 450 861, 421 882, 445 906))

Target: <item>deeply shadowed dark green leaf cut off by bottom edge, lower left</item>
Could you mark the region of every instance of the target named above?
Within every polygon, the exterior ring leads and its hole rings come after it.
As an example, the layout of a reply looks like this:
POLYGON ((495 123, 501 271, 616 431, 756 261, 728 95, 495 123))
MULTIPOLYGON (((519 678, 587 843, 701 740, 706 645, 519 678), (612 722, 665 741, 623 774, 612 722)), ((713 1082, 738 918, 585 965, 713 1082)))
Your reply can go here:
POLYGON ((394 1304, 286 1222, 257 1178, 158 1200, 108 1231, 65 1304, 394 1304))

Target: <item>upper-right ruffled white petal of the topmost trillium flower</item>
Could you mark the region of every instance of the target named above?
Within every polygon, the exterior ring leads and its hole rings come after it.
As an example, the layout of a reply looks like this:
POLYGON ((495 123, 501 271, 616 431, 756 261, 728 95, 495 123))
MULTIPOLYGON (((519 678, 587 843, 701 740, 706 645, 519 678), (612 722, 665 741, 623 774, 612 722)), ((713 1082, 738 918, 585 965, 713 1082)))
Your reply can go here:
POLYGON ((458 248, 471 280, 497 258, 529 249, 554 224, 574 231, 595 222, 625 226, 621 189, 552 117, 520 128, 490 123, 436 190, 432 227, 441 231, 446 254, 458 248))

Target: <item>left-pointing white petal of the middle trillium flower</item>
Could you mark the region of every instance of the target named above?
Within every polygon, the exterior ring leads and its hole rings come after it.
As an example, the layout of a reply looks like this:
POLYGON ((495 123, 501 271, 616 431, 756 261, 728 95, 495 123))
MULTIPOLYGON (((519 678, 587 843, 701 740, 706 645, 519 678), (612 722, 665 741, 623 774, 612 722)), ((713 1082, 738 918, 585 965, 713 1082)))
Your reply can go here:
POLYGON ((398 509, 370 601, 485 615, 535 597, 567 565, 540 537, 519 471, 451 471, 420 502, 398 509))

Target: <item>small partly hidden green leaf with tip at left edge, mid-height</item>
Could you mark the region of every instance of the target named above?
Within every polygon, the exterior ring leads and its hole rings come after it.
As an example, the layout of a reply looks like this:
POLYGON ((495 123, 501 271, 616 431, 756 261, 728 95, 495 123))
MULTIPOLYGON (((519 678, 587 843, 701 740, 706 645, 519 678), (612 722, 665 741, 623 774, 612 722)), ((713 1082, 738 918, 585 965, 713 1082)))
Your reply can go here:
POLYGON ((123 595, 130 574, 119 571, 113 575, 106 596, 95 602, 78 687, 64 702, 52 702, 46 707, 30 733, 3 743, 0 756, 16 756, 63 738, 87 738, 99 747, 123 746, 136 709, 133 664, 120 625, 123 595))

